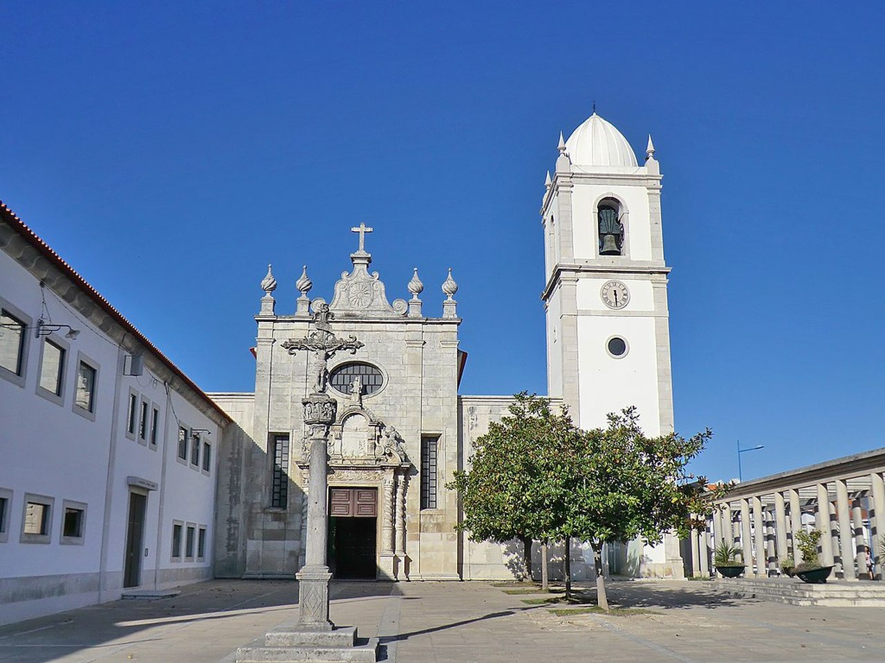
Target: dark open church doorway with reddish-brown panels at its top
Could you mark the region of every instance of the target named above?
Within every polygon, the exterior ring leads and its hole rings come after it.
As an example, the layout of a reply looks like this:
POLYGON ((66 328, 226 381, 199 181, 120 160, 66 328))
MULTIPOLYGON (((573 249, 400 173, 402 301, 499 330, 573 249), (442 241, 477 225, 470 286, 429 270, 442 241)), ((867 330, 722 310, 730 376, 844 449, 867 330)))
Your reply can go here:
POLYGON ((329 489, 328 565, 335 578, 374 579, 378 491, 329 489))

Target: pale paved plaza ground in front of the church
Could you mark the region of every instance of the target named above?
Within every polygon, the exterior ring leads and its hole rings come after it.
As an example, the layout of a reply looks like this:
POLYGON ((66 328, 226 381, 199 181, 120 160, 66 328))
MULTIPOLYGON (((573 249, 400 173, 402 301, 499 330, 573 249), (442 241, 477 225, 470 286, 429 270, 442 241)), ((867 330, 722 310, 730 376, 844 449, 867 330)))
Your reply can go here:
MULTIPOLYGON (((612 582, 610 595, 643 612, 558 617, 490 583, 333 583, 332 618, 377 634, 381 660, 400 663, 885 660, 885 608, 784 606, 689 582, 612 582)), ((91 606, 0 628, 0 661, 233 661, 296 620, 296 596, 294 582, 219 580, 91 606)))

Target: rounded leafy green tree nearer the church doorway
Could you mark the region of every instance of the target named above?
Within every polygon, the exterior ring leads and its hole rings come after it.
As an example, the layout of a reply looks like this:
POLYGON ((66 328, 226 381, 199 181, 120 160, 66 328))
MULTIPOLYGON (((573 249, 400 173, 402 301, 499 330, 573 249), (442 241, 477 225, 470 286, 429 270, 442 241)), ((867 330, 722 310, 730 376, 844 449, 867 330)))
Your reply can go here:
POLYGON ((562 502, 561 450, 580 436, 567 411, 555 413, 550 400, 519 393, 509 414, 474 441, 469 469, 458 470, 447 486, 458 490, 464 513, 458 527, 471 540, 522 542, 524 579, 532 577, 532 541, 547 543, 562 526, 554 508, 562 502))

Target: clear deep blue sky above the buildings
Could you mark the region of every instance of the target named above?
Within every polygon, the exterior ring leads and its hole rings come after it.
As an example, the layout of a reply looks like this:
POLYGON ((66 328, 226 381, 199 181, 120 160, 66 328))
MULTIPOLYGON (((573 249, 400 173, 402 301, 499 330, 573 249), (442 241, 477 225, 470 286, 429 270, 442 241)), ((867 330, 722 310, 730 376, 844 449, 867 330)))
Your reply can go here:
POLYGON ((206 390, 367 240, 451 266, 461 391, 545 392, 537 210, 596 101, 664 173, 677 429, 744 477, 883 446, 881 5, 4 3, 0 199, 206 390))

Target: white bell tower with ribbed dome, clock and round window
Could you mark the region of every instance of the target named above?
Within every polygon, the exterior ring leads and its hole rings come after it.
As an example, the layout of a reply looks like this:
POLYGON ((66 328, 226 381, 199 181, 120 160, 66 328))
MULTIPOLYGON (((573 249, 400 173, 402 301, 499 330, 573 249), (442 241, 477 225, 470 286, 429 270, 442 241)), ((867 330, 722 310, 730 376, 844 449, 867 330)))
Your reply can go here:
POLYGON ((582 428, 635 405, 647 435, 673 431, 661 175, 594 111, 547 173, 547 386, 582 428))

